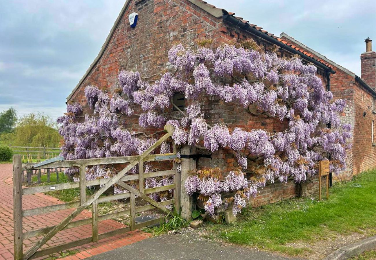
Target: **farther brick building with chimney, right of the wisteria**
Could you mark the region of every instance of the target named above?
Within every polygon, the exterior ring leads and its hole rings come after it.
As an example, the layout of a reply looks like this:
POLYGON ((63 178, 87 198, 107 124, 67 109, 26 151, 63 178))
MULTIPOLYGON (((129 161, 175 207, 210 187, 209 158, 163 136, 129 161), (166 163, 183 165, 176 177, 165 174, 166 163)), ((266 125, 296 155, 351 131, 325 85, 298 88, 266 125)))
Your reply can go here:
POLYGON ((376 167, 376 146, 373 125, 376 120, 374 99, 376 98, 376 53, 372 51, 372 41, 366 39, 366 51, 361 54, 361 78, 351 71, 329 60, 296 39, 282 33, 283 42, 294 44, 312 53, 315 58, 331 64, 336 71, 330 76, 330 89, 334 98, 346 100, 346 109, 341 121, 352 125, 353 148, 348 153, 347 170, 336 176, 348 180, 352 175, 376 167))

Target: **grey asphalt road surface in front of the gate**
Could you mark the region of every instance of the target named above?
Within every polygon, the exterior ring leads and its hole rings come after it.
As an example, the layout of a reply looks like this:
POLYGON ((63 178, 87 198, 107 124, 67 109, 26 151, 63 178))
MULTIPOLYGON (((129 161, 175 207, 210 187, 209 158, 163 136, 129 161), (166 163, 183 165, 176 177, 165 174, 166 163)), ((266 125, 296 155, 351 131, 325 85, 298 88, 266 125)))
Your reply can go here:
POLYGON ((166 234, 144 239, 88 258, 90 260, 291 260, 268 252, 224 245, 212 240, 197 240, 191 234, 166 234))

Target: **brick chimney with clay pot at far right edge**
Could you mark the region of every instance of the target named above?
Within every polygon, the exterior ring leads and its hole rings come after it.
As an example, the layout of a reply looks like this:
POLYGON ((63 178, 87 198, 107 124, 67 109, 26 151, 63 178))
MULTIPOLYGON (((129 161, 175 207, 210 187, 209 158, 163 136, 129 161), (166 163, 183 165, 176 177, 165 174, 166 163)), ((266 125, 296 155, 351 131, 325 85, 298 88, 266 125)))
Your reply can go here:
POLYGON ((372 40, 365 39, 365 52, 360 55, 362 79, 376 90, 376 52, 372 51, 372 40))

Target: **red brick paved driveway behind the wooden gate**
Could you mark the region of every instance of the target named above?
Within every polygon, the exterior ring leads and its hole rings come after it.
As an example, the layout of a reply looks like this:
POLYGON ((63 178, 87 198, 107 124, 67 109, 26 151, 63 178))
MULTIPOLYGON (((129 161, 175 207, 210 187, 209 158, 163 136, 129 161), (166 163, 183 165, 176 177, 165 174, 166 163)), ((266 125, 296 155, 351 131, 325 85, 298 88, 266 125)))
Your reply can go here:
MULTIPOLYGON (((0 164, 0 259, 13 259, 13 187, 12 187, 12 165, 0 164)), ((43 193, 23 196, 23 209, 32 209, 55 204, 62 204, 56 198, 47 196, 43 193)), ((57 212, 46 213, 37 216, 28 216, 23 218, 23 229, 29 231, 58 224, 62 219, 68 216, 74 209, 59 210, 57 212)), ((91 212, 84 210, 74 220, 91 218, 91 212)), ((99 234, 125 227, 125 225, 114 220, 99 222, 99 234)), ((91 224, 76 228, 62 230, 56 236, 47 242, 42 248, 48 246, 60 245, 62 243, 72 242, 78 239, 91 236, 91 224)), ((78 246, 70 250, 79 251, 76 255, 67 257, 69 259, 83 259, 92 255, 100 254, 120 246, 143 240, 150 234, 136 230, 129 233, 117 235, 107 239, 99 240, 88 245, 78 246)), ((24 240, 24 252, 36 243, 41 236, 24 240)))

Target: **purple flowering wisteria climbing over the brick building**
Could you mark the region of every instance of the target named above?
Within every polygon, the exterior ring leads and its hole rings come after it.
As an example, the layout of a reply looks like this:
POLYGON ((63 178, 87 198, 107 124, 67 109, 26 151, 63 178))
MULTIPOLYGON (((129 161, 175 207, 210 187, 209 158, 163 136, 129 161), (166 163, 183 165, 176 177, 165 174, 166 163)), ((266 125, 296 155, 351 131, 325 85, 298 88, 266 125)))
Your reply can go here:
POLYGON ((186 192, 202 195, 210 214, 229 202, 237 214, 250 195, 256 195, 267 182, 285 182, 289 177, 304 182, 317 174, 319 160, 330 158, 330 170, 335 174, 345 169, 350 125, 341 124, 338 117, 345 102, 334 100, 332 93, 325 91, 314 65, 295 56, 282 58, 275 52, 248 47, 185 48, 179 44, 168 52, 173 70, 156 75, 158 80, 150 82, 150 77, 143 79, 138 72, 121 71, 120 88, 111 98, 96 86, 87 86, 85 95, 94 116, 86 115, 84 122, 76 122, 82 107, 68 104, 66 115, 59 119, 64 136, 62 155, 82 159, 142 153, 155 136, 140 138, 121 120, 122 116, 134 115, 139 106, 139 125, 173 125, 176 145, 200 145, 211 152, 230 148, 235 153, 240 169, 222 172, 226 177, 219 178, 217 170, 212 169, 196 172, 185 181, 186 192), (193 100, 185 111, 172 102, 176 92, 193 100), (244 109, 256 107, 257 113, 249 112, 275 117, 287 127, 283 132, 270 133, 241 128, 230 131, 221 123, 210 125, 200 102, 203 96, 244 109), (179 115, 172 112, 173 106, 179 115), (331 128, 327 127, 329 123, 331 128), (222 201, 223 192, 235 195, 222 201))

